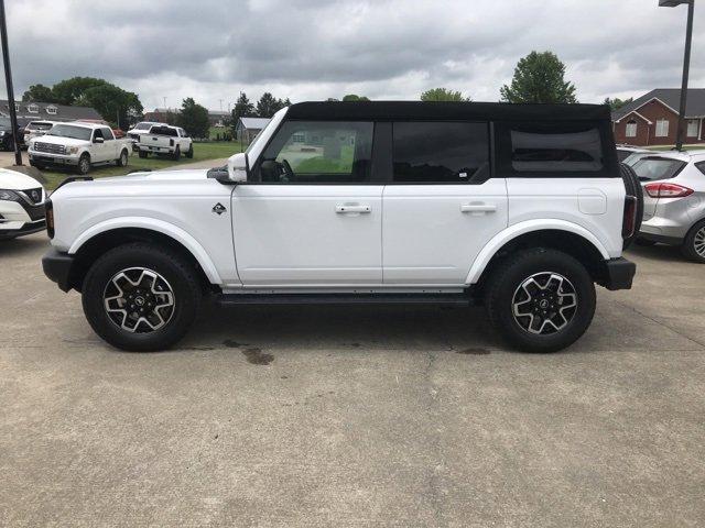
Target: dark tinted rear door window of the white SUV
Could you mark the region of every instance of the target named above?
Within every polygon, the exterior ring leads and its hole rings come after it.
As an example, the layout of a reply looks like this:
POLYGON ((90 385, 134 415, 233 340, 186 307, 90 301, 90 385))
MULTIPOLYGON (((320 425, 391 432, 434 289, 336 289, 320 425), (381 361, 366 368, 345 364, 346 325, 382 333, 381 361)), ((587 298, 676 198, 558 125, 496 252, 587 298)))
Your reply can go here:
POLYGON ((394 182, 467 183, 489 173, 486 123, 394 123, 394 182))

